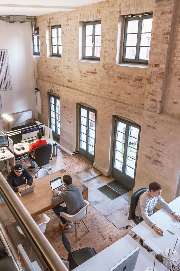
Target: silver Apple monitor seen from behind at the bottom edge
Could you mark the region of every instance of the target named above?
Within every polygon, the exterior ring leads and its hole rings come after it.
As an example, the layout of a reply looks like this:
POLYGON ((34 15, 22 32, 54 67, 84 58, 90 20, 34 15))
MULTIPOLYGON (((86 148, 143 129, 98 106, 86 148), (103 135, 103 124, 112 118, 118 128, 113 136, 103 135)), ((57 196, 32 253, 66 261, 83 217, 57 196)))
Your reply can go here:
POLYGON ((133 251, 131 251, 127 256, 125 256, 122 260, 120 260, 117 264, 115 264, 108 271, 133 271, 137 262, 137 257, 139 254, 140 248, 137 247, 133 251))

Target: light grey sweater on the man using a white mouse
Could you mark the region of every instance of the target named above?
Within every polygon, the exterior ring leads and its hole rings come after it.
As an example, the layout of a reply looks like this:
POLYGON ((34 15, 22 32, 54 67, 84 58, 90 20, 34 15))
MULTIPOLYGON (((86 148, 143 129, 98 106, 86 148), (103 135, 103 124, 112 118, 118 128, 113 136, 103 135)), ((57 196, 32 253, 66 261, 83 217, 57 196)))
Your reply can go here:
POLYGON ((149 215, 153 214, 153 209, 156 206, 157 202, 170 214, 172 214, 174 211, 169 207, 167 202, 164 201, 164 199, 161 196, 152 198, 148 191, 144 192, 137 203, 136 209, 135 209, 135 215, 138 217, 142 217, 146 224, 150 227, 155 225, 152 220, 150 219, 149 215))

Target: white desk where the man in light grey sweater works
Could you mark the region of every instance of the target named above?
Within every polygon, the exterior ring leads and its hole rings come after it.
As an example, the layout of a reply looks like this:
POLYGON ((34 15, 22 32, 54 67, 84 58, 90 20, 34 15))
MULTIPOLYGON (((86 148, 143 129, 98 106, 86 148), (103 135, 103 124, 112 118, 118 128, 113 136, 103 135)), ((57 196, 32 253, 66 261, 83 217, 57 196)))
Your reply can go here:
MULTIPOLYGON (((170 202, 169 206, 177 214, 180 214, 180 197, 170 202)), ((162 249, 163 253, 161 255, 162 257, 165 257, 164 250, 167 248, 173 249, 177 240, 175 234, 167 231, 170 225, 176 222, 176 220, 173 215, 169 214, 164 208, 151 215, 151 220, 157 225, 157 227, 163 230, 165 234, 164 236, 158 235, 153 228, 149 227, 144 221, 132 228, 132 231, 134 231, 134 233, 137 234, 142 240, 147 238, 150 239, 155 245, 162 249)), ((180 240, 177 241, 175 250, 180 253, 180 240)), ((172 262, 172 264, 177 266, 180 264, 180 260, 177 262, 172 262)))

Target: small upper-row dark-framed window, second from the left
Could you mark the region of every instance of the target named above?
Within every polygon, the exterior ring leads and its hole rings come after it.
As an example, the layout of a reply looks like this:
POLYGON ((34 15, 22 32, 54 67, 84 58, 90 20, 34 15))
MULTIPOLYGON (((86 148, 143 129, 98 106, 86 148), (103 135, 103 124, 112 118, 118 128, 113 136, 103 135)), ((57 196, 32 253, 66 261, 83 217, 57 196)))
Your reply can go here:
POLYGON ((51 44, 52 44, 52 56, 61 56, 62 41, 60 25, 51 26, 51 44))

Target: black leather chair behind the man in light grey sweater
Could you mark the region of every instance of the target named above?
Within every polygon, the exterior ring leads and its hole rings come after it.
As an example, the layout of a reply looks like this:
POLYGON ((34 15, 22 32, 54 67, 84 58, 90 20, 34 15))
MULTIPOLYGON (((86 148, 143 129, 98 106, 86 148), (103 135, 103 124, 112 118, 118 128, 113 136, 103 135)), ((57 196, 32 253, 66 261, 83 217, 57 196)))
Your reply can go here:
MULTIPOLYGON (((131 196, 131 203, 130 203, 130 207, 129 207, 129 216, 128 216, 128 220, 133 220, 133 222, 137 225, 138 223, 136 222, 134 215, 135 215, 135 208, 136 205, 138 203, 138 199, 139 197, 146 192, 147 190, 149 190, 148 188, 140 188, 137 191, 134 192, 134 194, 131 196)), ((133 225, 127 224, 126 228, 128 229, 129 227, 134 227, 133 225)))

